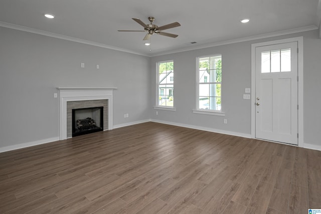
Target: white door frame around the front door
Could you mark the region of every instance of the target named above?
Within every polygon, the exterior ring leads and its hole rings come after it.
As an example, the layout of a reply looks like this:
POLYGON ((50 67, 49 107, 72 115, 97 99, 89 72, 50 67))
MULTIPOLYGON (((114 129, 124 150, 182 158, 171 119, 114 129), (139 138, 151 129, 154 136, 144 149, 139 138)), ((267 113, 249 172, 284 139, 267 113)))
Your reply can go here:
POLYGON ((281 39, 269 42, 261 42, 252 44, 251 48, 251 137, 255 138, 255 50, 260 46, 276 45, 282 43, 297 42, 298 54, 297 54, 297 72, 298 72, 298 147, 303 147, 303 37, 293 37, 288 39, 281 39))

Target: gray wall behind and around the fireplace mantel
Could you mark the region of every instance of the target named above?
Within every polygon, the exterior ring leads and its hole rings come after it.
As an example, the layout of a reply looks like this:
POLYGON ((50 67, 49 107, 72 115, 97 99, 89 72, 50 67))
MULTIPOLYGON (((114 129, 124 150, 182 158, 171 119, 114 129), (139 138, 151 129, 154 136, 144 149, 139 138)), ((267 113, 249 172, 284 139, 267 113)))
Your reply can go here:
POLYGON ((148 120, 149 73, 148 57, 0 27, 0 149, 59 137, 58 86, 117 87, 114 126, 148 120))

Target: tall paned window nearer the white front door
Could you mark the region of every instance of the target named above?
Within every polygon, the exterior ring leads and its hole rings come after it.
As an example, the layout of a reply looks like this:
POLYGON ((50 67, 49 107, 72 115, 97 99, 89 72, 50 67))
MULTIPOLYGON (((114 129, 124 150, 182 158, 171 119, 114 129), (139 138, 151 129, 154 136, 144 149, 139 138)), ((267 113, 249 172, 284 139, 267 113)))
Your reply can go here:
POLYGON ((197 109, 221 112, 222 56, 198 58, 197 109))

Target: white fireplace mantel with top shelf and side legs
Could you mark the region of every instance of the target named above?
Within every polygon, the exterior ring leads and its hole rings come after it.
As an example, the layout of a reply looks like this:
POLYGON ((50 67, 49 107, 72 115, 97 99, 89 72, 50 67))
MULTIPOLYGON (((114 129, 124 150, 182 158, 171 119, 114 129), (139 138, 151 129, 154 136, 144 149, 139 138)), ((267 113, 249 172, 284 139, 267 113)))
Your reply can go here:
POLYGON ((67 102, 81 100, 108 101, 108 127, 105 130, 113 129, 113 90, 116 87, 57 87, 59 90, 59 138, 67 139, 67 102))

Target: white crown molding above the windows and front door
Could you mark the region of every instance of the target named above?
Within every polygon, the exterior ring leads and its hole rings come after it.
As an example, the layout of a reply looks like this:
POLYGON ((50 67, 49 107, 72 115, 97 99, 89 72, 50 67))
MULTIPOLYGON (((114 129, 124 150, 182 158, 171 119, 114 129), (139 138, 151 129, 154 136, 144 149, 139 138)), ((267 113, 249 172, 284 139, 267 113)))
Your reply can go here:
POLYGON ((316 30, 316 29, 318 29, 318 27, 316 27, 315 25, 310 25, 310 26, 306 26, 306 27, 302 27, 302 28, 295 28, 295 29, 290 29, 290 30, 278 31, 278 32, 267 33, 267 34, 260 34, 260 35, 256 35, 256 36, 244 37, 244 38, 239 38, 239 39, 214 42, 214 43, 210 43, 210 44, 193 46, 193 47, 189 47, 189 48, 182 48, 182 49, 176 49, 176 50, 172 50, 172 51, 165 51, 165 52, 155 53, 150 56, 151 57, 162 56, 162 55, 166 55, 166 54, 173 54, 173 53, 197 50, 197 49, 202 49, 202 48, 210 48, 210 47, 215 47, 215 46, 220 46, 220 45, 228 45, 228 44, 233 44, 233 43, 247 42, 247 41, 251 41, 251 40, 264 39, 264 38, 269 38, 269 37, 282 36, 282 35, 300 33, 300 32, 305 32, 305 31, 312 31, 312 30, 316 30))

